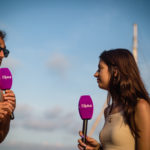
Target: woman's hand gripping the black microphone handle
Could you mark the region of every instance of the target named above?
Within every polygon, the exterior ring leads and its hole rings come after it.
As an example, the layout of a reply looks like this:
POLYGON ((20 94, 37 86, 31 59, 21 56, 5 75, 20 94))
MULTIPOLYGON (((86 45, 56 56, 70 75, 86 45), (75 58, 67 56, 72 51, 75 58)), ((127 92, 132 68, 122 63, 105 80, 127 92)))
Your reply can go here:
MULTIPOLYGON (((80 131, 79 135, 83 137, 83 133, 80 131)), ((82 142, 82 139, 78 140, 78 148, 80 150, 98 150, 100 148, 100 143, 91 137, 86 137, 86 144, 82 142)))

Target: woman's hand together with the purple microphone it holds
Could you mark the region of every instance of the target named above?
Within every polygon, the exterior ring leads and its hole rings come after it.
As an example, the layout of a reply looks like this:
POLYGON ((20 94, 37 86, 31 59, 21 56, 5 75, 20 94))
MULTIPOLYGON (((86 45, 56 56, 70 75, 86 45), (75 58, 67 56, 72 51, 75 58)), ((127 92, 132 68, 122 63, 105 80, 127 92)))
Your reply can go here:
POLYGON ((89 95, 83 95, 80 97, 79 114, 83 120, 83 127, 82 132, 79 132, 82 139, 78 140, 78 148, 80 150, 99 150, 100 143, 87 136, 88 120, 90 120, 93 116, 93 102, 89 95))

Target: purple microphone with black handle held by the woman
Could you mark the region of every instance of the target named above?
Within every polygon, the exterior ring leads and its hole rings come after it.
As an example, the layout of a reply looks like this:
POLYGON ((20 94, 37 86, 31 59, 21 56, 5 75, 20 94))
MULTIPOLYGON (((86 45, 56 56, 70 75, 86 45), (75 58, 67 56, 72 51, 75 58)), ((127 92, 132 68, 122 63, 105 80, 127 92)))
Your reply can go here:
POLYGON ((79 100, 79 114, 81 119, 83 120, 82 132, 84 137, 82 141, 86 143, 86 135, 87 135, 87 124, 88 120, 90 120, 93 116, 93 102, 89 95, 83 95, 79 100))

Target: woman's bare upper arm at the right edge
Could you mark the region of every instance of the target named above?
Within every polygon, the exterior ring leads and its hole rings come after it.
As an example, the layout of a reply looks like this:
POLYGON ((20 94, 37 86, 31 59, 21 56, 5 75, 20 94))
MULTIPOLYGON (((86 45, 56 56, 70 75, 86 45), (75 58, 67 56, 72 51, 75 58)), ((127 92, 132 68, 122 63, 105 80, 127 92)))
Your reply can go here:
POLYGON ((150 105, 143 99, 138 101, 135 109, 135 125, 139 134, 137 150, 150 150, 150 105))

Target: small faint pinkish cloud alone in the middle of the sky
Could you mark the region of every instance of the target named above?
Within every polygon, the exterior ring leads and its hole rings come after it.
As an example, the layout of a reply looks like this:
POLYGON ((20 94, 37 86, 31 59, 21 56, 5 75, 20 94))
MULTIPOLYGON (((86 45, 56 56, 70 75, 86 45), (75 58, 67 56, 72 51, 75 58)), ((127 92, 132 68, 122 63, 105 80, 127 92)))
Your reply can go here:
POLYGON ((47 66, 51 72, 64 76, 70 63, 62 53, 53 53, 47 61, 47 66))

